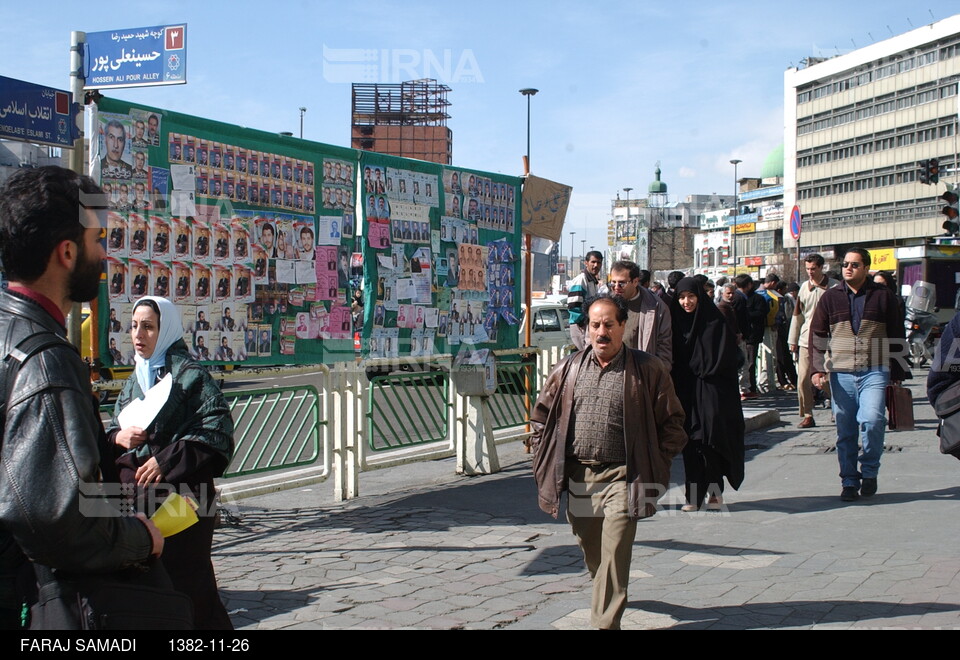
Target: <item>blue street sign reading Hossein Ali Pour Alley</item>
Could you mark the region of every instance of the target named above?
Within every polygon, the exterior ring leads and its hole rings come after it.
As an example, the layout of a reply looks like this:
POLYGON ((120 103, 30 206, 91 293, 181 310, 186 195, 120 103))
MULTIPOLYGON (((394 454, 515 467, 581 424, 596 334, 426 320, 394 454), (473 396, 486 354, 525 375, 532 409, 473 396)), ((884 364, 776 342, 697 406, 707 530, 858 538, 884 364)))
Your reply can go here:
POLYGON ((186 24, 88 33, 84 77, 84 89, 184 84, 186 24))

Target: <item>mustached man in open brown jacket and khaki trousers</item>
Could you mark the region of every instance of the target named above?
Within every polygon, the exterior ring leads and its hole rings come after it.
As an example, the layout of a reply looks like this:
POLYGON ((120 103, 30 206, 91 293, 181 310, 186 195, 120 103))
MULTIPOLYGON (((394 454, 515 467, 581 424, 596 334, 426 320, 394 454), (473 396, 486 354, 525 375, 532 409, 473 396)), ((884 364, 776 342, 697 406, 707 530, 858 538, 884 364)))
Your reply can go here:
POLYGON ((637 520, 656 513, 670 463, 687 442, 670 372, 624 346, 627 309, 600 295, 584 305, 589 345, 560 362, 531 414, 540 508, 567 520, 593 578, 591 623, 617 629, 637 520))

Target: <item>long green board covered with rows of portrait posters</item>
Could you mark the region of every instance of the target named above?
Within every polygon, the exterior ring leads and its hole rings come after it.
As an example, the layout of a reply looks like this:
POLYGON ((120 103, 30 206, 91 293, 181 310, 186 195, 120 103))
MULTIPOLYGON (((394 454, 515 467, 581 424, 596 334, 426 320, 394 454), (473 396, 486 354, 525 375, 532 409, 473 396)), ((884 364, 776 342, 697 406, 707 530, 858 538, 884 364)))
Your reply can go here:
POLYGON ((133 364, 143 295, 177 304, 209 364, 352 361, 355 334, 370 357, 517 346, 516 177, 107 98, 94 125, 90 170, 112 207, 105 366, 133 364))

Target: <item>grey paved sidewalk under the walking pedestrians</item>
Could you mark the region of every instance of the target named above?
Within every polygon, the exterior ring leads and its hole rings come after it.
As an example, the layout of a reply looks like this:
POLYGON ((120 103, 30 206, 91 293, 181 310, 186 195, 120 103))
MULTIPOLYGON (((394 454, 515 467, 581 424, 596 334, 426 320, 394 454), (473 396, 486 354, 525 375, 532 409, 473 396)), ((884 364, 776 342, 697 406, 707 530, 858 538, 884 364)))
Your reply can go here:
MULTIPOLYGON (((752 402, 783 421, 748 435, 727 511, 681 513, 675 462, 664 511, 639 525, 624 628, 960 627, 960 462, 937 450, 918 372, 917 429, 887 434, 868 500, 840 502, 829 412, 799 430, 789 394, 752 402)), ((235 625, 587 627, 569 525, 537 508, 519 443, 500 458, 486 477, 452 460, 364 473, 346 504, 318 484, 230 505, 242 522, 217 531, 214 564, 235 625)))

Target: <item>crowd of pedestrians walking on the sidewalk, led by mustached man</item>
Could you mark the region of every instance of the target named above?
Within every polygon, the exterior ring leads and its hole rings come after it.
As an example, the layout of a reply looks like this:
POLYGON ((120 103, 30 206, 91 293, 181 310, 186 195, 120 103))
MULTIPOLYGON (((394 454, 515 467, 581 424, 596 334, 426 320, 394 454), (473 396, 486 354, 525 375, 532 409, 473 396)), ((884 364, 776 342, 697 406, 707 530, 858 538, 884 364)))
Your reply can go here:
POLYGON ((892 276, 870 275, 869 252, 847 250, 837 278, 810 254, 802 283, 674 271, 666 286, 629 261, 604 282, 602 255, 588 257, 568 298, 577 350, 531 417, 540 506, 556 516, 569 494, 595 626, 620 625, 629 547, 665 491, 664 460, 682 452, 685 512, 720 510, 725 485, 743 483, 744 402, 795 391, 808 429, 830 399, 840 499, 877 493, 885 393, 908 365, 903 301, 892 276))

